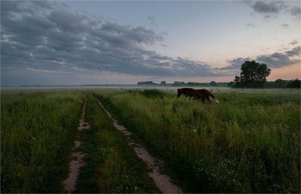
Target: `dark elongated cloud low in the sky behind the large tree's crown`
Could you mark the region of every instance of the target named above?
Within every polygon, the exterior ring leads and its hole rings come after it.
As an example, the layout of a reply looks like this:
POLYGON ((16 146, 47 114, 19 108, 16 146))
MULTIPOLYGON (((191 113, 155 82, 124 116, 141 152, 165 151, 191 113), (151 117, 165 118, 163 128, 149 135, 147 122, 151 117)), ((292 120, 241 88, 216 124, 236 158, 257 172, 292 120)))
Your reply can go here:
POLYGON ((301 47, 297 46, 290 51, 285 51, 284 53, 275 52, 271 55, 260 55, 254 59, 247 57, 227 60, 227 62, 231 63, 231 65, 220 68, 220 70, 231 70, 233 72, 239 72, 241 64, 243 64, 246 60, 255 60, 256 62, 265 63, 267 64, 268 68, 282 68, 285 66, 300 63, 299 59, 290 59, 290 57, 300 56, 300 53, 301 47))

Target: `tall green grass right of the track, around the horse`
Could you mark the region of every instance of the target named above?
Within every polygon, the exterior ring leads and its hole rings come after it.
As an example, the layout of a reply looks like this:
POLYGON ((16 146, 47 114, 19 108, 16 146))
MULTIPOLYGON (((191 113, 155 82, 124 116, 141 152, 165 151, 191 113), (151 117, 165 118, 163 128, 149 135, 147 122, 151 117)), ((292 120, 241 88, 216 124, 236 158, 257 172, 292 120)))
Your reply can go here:
POLYGON ((300 192, 300 89, 211 89, 220 104, 98 95, 166 160, 185 192, 300 192))

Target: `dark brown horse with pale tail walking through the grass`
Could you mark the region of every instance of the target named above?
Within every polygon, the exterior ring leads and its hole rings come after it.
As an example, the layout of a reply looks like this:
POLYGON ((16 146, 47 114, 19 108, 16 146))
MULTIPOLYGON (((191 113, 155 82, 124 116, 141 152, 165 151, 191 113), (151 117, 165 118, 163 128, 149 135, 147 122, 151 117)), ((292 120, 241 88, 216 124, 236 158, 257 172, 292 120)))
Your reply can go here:
POLYGON ((178 89, 178 97, 180 97, 181 94, 184 94, 186 97, 191 97, 194 99, 202 98, 203 103, 205 102, 205 99, 207 99, 212 104, 211 100, 209 99, 209 97, 211 97, 213 101, 219 103, 216 97, 209 90, 206 89, 195 90, 192 88, 185 87, 185 88, 178 89))

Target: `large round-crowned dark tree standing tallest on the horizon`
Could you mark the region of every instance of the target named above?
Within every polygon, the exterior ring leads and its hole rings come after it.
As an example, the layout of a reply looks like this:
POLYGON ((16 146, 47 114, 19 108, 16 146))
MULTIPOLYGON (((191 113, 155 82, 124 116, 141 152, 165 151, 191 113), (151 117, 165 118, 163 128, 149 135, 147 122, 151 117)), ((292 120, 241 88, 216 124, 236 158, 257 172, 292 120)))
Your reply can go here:
POLYGON ((245 61, 240 67, 240 76, 235 76, 235 87, 265 87, 266 77, 271 74, 271 69, 265 63, 255 60, 245 61))

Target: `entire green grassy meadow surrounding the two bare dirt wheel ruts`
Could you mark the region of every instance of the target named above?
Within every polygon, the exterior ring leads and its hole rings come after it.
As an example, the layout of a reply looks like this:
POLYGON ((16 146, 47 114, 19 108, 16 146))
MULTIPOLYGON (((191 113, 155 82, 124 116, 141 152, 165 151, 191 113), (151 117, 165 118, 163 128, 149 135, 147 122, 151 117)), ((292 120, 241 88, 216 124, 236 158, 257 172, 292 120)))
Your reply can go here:
MULTIPOLYGON (((177 98, 174 88, 1 91, 1 192, 61 192, 82 113, 82 94, 89 92, 134 133, 136 141, 143 141, 164 161, 162 172, 186 193, 300 193, 300 89, 206 89, 220 103, 177 98)), ((125 181, 120 172, 122 177, 114 178, 118 174, 114 170, 131 171, 140 162, 130 159, 132 154, 120 139, 112 140, 119 135, 95 116, 105 114, 94 104, 88 102, 86 116, 92 130, 83 134, 90 142, 87 161, 92 163, 82 176, 88 180, 89 172, 96 171, 91 180, 103 189, 103 183, 112 182, 104 177, 125 181), (110 154, 104 157, 98 153, 102 149, 110 154), (123 153, 126 157, 120 156, 123 153), (109 164, 116 158, 118 168, 109 164), (123 159, 131 160, 130 165, 123 159)), ((129 183, 139 179, 134 177, 129 183)), ((117 187, 102 192, 119 192, 117 187)), ((157 192, 154 186, 149 188, 157 192)), ((100 191, 95 189, 91 192, 100 191)), ((132 189, 120 192, 135 192, 136 186, 132 189)), ((77 192, 84 191, 81 187, 77 192)))

